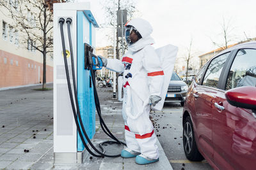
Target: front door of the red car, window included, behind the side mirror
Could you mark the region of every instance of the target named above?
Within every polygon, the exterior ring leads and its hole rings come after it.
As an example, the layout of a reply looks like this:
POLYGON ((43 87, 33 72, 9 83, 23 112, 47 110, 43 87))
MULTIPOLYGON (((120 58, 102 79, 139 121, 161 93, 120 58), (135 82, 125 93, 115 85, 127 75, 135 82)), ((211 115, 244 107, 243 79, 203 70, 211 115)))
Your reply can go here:
POLYGON ((255 169, 256 118, 252 110, 228 104, 225 90, 243 85, 256 85, 256 50, 238 50, 223 90, 216 93, 212 107, 214 162, 219 169, 255 169), (250 76, 249 81, 246 76, 250 76))

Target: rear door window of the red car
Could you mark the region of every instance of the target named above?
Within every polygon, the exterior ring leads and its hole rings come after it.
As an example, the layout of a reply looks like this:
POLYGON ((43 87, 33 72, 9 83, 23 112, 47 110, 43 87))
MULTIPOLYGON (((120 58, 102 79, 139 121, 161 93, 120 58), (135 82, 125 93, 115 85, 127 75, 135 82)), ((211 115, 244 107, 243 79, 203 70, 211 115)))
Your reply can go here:
POLYGON ((220 73, 229 53, 230 52, 224 53, 223 55, 220 55, 211 61, 205 73, 203 85, 217 88, 220 79, 220 73))

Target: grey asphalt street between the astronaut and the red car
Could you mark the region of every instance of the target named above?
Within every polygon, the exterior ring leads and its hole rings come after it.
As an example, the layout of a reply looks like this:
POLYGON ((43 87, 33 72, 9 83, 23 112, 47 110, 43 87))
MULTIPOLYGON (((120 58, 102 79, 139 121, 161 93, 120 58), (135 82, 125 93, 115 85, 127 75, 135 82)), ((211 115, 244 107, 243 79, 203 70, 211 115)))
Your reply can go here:
POLYGON ((182 110, 179 103, 164 104, 163 111, 151 111, 157 138, 173 169, 212 169, 206 160, 186 159, 182 143, 182 110))

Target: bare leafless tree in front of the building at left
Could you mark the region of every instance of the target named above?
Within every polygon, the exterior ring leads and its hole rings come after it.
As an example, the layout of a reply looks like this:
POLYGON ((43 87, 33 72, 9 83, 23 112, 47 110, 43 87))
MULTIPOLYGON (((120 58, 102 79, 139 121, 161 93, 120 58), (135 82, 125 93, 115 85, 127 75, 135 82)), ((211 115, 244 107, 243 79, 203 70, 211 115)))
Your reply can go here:
POLYGON ((53 48, 52 5, 53 3, 60 3, 60 0, 20 0, 18 1, 19 6, 5 2, 0 0, 0 6, 8 10, 7 17, 12 18, 14 24, 12 26, 22 33, 20 34, 20 42, 28 45, 29 50, 35 49, 43 54, 44 89, 46 85, 46 54, 52 53, 53 48))

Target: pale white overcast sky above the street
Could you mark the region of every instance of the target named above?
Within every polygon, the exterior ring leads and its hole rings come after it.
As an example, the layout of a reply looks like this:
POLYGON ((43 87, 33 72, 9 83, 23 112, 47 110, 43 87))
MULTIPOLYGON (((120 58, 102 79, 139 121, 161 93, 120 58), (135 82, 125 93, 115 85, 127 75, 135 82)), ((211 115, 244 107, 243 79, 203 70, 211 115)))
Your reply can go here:
MULTIPOLYGON (((80 0, 83 1, 83 0, 80 0)), ((84 0, 88 1, 88 0, 84 0)), ((115 0, 117 1, 117 0, 115 0)), ((121 0, 122 1, 122 0, 121 0)), ((90 1, 92 13, 98 24, 104 23, 103 0, 90 1)), ((148 20, 153 27, 155 48, 172 44, 179 47, 178 57, 186 55, 192 39, 192 53, 195 56, 218 48, 212 41, 224 45, 221 33, 223 19, 229 22, 230 44, 256 37, 255 0, 134 0, 134 17, 148 20)), ((111 31, 110 31, 111 32, 111 31)), ((96 45, 112 45, 109 31, 97 29, 96 45)), ((196 57, 197 58, 197 57, 196 57)))

